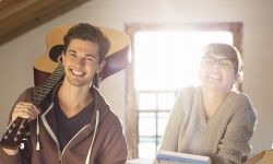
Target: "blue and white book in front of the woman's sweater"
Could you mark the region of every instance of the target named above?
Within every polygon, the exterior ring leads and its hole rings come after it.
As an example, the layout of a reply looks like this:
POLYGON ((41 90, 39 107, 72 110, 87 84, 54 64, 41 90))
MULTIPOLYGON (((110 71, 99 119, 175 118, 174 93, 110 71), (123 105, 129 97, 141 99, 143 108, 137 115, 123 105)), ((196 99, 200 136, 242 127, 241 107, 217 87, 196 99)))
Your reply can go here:
POLYGON ((156 160, 164 164, 211 164, 209 156, 170 151, 159 151, 156 160))

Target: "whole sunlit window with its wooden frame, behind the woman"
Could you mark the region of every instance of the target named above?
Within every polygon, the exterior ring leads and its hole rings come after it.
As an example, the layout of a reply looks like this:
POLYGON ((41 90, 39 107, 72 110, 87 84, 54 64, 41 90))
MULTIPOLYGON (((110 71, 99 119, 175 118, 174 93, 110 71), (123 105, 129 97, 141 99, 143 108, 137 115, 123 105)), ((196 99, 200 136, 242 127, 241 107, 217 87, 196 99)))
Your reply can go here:
POLYGON ((138 28, 138 24, 127 26, 133 49, 127 74, 127 97, 134 104, 127 108, 127 117, 130 121, 133 120, 131 118, 136 119, 131 124, 134 128, 127 126, 130 157, 155 156, 177 92, 198 82, 203 46, 212 42, 235 44, 238 40, 227 26, 219 28, 217 24, 215 30, 206 30, 205 25, 205 30, 201 30, 200 26, 204 25, 199 24, 194 28, 179 28, 179 25, 176 28, 166 28, 165 25, 163 28, 161 25, 147 25, 147 28, 145 25, 138 28), (136 131, 135 136, 128 132, 130 129, 136 131))

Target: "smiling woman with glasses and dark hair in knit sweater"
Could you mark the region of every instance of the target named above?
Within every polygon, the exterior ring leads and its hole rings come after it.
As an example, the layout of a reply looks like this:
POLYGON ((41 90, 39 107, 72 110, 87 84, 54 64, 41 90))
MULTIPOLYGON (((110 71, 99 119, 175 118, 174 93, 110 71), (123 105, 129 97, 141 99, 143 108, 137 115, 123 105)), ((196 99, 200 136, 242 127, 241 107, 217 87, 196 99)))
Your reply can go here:
POLYGON ((257 114, 249 97, 239 93, 238 50, 226 44, 207 45, 199 78, 200 86, 178 94, 159 151, 205 155, 214 164, 240 164, 251 151, 257 114))

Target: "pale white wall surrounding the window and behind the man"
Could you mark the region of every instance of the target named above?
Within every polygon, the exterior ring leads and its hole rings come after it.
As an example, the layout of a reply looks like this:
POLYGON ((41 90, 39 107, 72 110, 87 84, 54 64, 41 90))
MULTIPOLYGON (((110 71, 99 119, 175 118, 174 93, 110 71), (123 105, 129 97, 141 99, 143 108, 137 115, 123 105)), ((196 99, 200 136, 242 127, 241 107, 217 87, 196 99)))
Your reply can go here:
MULTIPOLYGON (((46 51, 45 36, 59 24, 88 22, 123 30, 127 22, 232 22, 244 23, 245 91, 259 115, 251 140, 253 153, 270 149, 273 142, 273 1, 271 0, 93 0, 0 46, 0 131, 8 113, 25 87, 33 85, 33 62, 46 51)), ((103 93, 122 118, 124 72, 100 85, 103 93)))

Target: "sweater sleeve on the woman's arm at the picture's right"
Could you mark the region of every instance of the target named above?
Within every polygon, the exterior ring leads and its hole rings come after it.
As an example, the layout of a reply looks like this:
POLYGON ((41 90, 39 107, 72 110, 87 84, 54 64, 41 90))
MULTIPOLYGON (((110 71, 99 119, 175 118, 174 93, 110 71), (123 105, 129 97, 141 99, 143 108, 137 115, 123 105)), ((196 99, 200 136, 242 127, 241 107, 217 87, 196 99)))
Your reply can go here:
POLYGON ((213 156, 215 164, 240 164, 241 159, 251 151, 249 140, 253 134, 257 115, 250 101, 242 97, 218 144, 218 152, 213 156))

